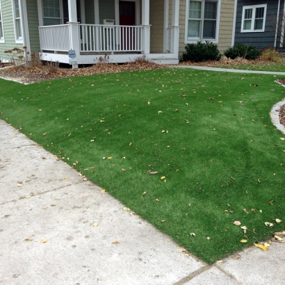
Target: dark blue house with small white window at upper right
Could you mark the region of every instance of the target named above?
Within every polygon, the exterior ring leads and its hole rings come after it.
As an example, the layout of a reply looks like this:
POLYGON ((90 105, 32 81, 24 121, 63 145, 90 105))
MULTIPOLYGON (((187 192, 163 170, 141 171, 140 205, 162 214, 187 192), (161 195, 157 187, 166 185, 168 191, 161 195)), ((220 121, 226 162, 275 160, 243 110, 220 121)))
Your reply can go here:
POLYGON ((234 42, 261 49, 283 47, 284 0, 238 0, 234 42))

